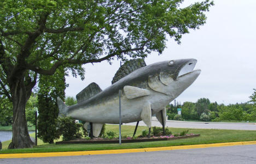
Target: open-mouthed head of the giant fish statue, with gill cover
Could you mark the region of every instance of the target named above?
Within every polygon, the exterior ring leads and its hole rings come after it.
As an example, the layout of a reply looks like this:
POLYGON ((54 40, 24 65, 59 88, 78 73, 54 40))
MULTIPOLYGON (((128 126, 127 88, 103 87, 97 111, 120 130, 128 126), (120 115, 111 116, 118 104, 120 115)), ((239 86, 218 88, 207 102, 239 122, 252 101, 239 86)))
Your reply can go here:
POLYGON ((200 75, 194 70, 196 59, 179 59, 158 63, 158 75, 149 76, 149 87, 176 98, 200 75))

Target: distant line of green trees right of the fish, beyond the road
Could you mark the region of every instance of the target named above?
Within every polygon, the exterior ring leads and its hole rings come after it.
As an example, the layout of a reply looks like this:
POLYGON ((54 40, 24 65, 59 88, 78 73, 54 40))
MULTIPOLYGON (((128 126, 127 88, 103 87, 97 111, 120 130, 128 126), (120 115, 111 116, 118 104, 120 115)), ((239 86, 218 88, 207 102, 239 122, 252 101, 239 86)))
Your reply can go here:
POLYGON ((256 121, 256 89, 245 103, 230 105, 210 102, 201 98, 196 102, 184 102, 182 105, 170 104, 166 107, 168 119, 174 120, 202 120, 212 122, 247 122, 256 121), (177 108, 182 108, 182 115, 177 114, 177 108))

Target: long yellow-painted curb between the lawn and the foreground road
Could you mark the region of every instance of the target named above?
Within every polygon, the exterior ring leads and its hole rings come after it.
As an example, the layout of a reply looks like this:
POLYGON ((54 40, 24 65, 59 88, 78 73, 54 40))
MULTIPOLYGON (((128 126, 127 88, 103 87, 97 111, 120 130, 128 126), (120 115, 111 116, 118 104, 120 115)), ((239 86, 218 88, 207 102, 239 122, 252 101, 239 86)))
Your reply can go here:
POLYGON ((182 146, 172 146, 172 147, 141 148, 141 149, 68 151, 68 152, 54 152, 54 153, 0 154, 0 159, 30 158, 30 157, 53 157, 53 156, 78 156, 78 155, 96 155, 96 154, 100 155, 100 154, 139 153, 139 152, 148 152, 148 151, 197 149, 197 148, 211 148, 211 147, 229 147, 229 146, 234 146, 234 145, 251 145, 251 144, 256 144, 256 141, 182 145, 182 146))

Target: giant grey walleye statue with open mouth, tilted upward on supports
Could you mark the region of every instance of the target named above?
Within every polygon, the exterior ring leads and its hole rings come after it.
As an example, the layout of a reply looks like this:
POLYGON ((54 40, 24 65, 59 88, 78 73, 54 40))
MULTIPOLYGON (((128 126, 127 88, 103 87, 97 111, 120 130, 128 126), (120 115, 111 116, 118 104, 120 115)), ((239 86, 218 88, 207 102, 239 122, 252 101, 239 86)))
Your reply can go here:
MULTIPOLYGON (((139 63, 139 60, 133 61, 139 63)), ((115 76, 123 78, 103 91, 96 83, 89 84, 77 95, 78 104, 76 105, 66 106, 58 98, 60 113, 93 123, 93 135, 97 137, 104 123, 119 124, 118 93, 121 89, 122 123, 143 120, 148 127, 151 127, 152 114, 156 114, 156 118, 165 126, 166 105, 187 89, 201 72, 201 70, 193 71, 195 64, 195 59, 179 59, 147 66, 131 65, 128 67, 131 68, 130 71, 123 69, 126 70, 126 74, 118 75, 122 74, 118 71, 115 76)), ((122 65, 120 69, 123 66, 129 66, 129 62, 122 65)))

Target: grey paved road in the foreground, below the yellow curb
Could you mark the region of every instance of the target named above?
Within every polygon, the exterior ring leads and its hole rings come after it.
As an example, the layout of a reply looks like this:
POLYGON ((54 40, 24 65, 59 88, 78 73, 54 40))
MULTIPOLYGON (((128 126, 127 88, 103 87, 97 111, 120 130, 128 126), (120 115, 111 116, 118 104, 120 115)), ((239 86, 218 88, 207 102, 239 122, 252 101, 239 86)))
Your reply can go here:
POLYGON ((256 163, 256 145, 144 153, 0 159, 0 163, 256 163))

